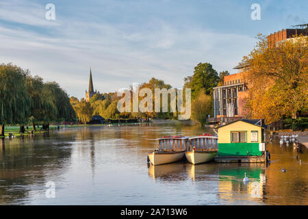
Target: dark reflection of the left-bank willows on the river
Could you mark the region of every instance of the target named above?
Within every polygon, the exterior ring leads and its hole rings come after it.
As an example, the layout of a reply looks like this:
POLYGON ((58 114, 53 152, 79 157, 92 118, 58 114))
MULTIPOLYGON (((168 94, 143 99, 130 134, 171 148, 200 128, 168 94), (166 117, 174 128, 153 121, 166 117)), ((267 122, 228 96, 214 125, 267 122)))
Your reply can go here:
POLYGON ((51 144, 42 149, 42 142, 50 142, 49 136, 0 140, 1 205, 27 200, 36 185, 44 185, 50 177, 62 174, 63 167, 70 162, 69 147, 59 150, 51 144))

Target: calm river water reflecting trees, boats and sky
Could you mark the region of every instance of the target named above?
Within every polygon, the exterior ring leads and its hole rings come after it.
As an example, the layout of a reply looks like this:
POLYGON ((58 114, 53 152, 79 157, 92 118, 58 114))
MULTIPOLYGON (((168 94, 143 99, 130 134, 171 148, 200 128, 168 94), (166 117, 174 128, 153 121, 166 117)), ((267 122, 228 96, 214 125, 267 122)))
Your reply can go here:
POLYGON ((213 130, 171 121, 5 138, 0 141, 0 204, 308 205, 307 149, 300 153, 291 144, 280 146, 279 139, 267 144, 267 165, 147 164, 155 138, 205 132, 213 130), (244 172, 249 183, 242 182, 244 172))

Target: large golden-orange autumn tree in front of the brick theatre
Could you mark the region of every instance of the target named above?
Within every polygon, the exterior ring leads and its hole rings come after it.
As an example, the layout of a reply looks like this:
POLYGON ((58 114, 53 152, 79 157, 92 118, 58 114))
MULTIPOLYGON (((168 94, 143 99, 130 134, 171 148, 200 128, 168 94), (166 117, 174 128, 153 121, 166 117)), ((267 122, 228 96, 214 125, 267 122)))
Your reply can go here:
POLYGON ((307 112, 308 37, 291 38, 274 48, 268 47, 265 36, 258 38, 255 49, 243 59, 248 64, 248 114, 272 123, 307 112))

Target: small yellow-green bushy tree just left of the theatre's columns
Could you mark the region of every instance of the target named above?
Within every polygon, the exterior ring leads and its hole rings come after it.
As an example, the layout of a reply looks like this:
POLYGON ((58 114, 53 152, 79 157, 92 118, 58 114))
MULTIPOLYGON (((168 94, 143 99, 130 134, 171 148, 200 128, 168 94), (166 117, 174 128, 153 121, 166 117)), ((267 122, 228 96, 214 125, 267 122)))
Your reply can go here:
POLYGON ((195 120, 202 127, 207 121, 207 116, 212 112, 212 99, 211 96, 205 92, 199 92, 197 98, 192 101, 192 120, 195 120))

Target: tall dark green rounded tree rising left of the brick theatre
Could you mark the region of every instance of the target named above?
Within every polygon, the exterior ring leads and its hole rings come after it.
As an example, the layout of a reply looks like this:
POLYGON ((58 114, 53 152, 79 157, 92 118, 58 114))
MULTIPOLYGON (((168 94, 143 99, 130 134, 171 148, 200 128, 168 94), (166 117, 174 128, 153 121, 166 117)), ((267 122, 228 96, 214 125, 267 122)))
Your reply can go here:
POLYGON ((211 64, 200 62, 194 67, 194 75, 192 75, 192 99, 196 99, 201 90, 204 90, 205 94, 211 94, 211 90, 217 86, 218 81, 218 74, 211 64))

